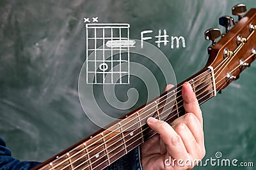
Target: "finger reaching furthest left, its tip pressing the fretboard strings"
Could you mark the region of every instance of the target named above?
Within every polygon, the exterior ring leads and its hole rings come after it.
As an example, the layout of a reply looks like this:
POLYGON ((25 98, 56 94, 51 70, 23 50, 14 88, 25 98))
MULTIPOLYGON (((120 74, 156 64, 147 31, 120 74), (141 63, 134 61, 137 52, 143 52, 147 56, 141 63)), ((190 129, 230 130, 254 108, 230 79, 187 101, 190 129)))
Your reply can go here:
POLYGON ((148 118, 147 124, 160 135, 160 138, 166 145, 166 150, 169 155, 172 155, 175 159, 189 157, 179 134, 177 134, 169 124, 152 117, 148 118))

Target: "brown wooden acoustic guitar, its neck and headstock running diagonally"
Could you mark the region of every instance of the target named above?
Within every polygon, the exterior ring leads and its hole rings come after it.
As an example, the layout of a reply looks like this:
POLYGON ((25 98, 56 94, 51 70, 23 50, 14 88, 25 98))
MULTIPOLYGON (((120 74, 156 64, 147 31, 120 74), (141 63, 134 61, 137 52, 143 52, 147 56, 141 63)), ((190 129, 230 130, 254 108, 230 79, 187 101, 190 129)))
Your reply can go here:
MULTIPOLYGON (((220 29, 208 29, 205 39, 212 41, 208 48, 209 59, 206 66, 185 81, 188 81, 202 104, 216 96, 239 74, 250 66, 256 55, 256 9, 246 11, 244 4, 232 8, 232 14, 239 16, 239 21, 223 16, 220 25, 226 28, 226 34, 220 29), (230 29, 230 27, 232 27, 230 29), (216 39, 220 37, 216 42, 216 39)), ((147 141, 156 132, 147 125, 148 117, 153 117, 170 124, 185 114, 182 106, 181 82, 140 108, 121 117, 104 129, 93 133, 70 148, 36 166, 40 170, 56 169, 104 169, 123 155, 147 141)))

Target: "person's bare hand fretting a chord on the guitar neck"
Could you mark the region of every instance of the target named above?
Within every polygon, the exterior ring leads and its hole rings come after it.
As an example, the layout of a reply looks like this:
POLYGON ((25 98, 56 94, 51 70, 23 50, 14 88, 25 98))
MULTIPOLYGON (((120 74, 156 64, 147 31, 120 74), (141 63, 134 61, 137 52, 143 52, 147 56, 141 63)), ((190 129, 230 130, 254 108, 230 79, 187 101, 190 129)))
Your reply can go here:
MULTIPOLYGON (((168 85, 166 90, 171 86, 168 85)), ((148 118, 147 124, 157 135, 141 145, 143 169, 192 169, 196 161, 204 158, 202 111, 187 82, 182 85, 182 97, 186 114, 171 125, 148 118)))

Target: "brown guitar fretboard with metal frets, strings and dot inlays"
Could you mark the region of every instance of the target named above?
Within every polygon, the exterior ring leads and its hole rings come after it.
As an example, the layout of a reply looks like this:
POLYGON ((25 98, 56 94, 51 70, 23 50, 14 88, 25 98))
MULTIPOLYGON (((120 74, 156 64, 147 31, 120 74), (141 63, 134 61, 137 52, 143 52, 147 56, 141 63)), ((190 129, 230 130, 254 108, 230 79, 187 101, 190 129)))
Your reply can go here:
MULTIPOLYGON (((188 81, 199 104, 216 95, 214 71, 211 67, 191 76, 188 81)), ((170 124, 185 114, 181 96, 182 83, 140 108, 124 115, 88 138, 40 164, 35 169, 103 169, 154 136, 147 125, 148 117, 170 124)))

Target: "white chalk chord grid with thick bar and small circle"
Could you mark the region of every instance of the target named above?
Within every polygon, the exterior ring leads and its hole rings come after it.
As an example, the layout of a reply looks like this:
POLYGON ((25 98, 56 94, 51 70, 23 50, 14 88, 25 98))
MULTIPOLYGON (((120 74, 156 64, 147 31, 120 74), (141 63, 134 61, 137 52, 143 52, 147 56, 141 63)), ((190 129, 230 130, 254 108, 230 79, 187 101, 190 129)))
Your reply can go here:
POLYGON ((129 84, 129 24, 86 24, 86 83, 129 84))

